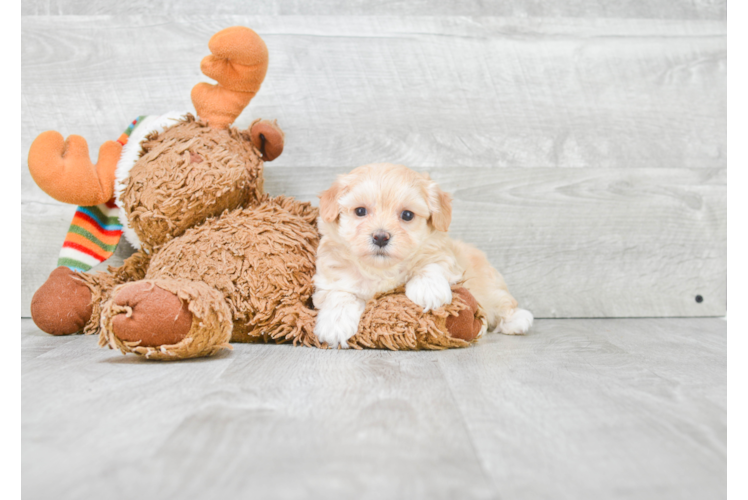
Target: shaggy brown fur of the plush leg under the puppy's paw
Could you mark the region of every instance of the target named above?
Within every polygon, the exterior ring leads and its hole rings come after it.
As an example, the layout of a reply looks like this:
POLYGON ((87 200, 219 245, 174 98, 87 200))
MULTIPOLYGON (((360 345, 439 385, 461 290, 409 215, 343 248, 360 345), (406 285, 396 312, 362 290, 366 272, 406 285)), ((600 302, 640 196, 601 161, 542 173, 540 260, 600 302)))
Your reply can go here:
MULTIPOLYGON (((454 287, 453 290, 457 290, 454 287)), ((405 295, 403 287, 382 294, 366 304, 358 333, 349 341, 353 349, 389 349, 392 351, 443 350, 468 347, 471 342, 453 338, 447 330, 447 319, 458 316, 470 306, 455 293, 451 304, 424 314, 405 295)), ((478 311, 485 325, 485 316, 478 311)), ((485 329, 485 327, 484 327, 485 329)), ((477 338, 477 337, 476 337, 477 338)))

